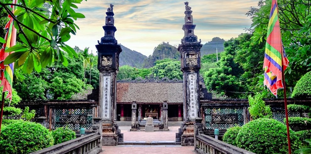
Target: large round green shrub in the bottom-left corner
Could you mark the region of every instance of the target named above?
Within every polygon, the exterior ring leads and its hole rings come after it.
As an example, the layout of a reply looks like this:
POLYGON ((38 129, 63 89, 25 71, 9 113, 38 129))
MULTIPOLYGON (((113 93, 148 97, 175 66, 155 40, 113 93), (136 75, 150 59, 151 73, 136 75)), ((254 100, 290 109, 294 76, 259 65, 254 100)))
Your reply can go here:
POLYGON ((18 121, 1 130, 0 151, 7 154, 28 154, 53 146, 53 137, 41 124, 18 121))

